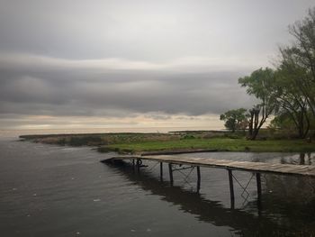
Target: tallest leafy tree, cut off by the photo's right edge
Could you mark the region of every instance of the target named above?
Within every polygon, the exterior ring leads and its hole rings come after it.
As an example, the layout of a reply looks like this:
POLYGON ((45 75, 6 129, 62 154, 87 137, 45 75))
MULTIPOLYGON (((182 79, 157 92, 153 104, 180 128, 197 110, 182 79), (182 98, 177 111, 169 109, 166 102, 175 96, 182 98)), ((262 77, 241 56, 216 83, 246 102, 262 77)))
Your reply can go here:
POLYGON ((281 90, 279 115, 286 114, 305 138, 315 117, 315 7, 289 27, 294 41, 280 48, 276 84, 281 90))

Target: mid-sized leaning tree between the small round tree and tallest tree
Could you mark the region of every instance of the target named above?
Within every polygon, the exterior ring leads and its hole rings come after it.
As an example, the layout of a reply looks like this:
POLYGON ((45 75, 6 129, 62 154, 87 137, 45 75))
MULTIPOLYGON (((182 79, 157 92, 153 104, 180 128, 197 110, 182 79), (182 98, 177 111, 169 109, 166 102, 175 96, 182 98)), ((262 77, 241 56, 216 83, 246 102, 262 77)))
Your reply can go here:
POLYGON ((260 68, 250 76, 238 78, 241 87, 247 87, 247 94, 256 96, 260 103, 249 110, 248 139, 255 140, 266 119, 277 109, 275 71, 271 68, 260 68))

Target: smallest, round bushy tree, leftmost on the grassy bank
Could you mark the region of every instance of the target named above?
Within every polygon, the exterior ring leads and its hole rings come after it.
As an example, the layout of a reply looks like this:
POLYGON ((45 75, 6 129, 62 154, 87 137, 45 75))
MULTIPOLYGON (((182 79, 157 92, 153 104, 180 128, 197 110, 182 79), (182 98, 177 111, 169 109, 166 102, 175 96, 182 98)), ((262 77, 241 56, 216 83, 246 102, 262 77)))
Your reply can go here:
POLYGON ((225 121, 224 126, 231 132, 238 129, 245 130, 247 127, 246 112, 247 110, 244 108, 229 110, 224 114, 220 114, 220 120, 225 121))

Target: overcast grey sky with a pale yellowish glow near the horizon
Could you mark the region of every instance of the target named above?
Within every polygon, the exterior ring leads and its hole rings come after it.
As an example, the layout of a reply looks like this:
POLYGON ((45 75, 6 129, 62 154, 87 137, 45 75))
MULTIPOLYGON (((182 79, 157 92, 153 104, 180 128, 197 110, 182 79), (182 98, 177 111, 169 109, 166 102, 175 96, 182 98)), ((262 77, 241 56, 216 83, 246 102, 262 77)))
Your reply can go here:
POLYGON ((0 129, 222 128, 313 0, 0 0, 0 129))

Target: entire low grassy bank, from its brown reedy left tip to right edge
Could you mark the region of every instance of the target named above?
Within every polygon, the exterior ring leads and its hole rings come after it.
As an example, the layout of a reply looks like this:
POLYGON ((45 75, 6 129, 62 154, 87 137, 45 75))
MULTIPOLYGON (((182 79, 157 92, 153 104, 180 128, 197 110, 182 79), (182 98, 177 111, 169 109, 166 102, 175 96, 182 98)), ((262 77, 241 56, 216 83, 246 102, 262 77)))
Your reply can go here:
POLYGON ((142 153, 148 151, 253 151, 311 152, 315 143, 305 140, 264 138, 247 141, 244 133, 172 132, 172 133, 103 133, 21 136, 25 140, 70 146, 97 146, 101 152, 142 153))

